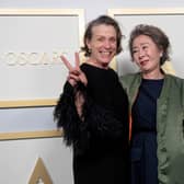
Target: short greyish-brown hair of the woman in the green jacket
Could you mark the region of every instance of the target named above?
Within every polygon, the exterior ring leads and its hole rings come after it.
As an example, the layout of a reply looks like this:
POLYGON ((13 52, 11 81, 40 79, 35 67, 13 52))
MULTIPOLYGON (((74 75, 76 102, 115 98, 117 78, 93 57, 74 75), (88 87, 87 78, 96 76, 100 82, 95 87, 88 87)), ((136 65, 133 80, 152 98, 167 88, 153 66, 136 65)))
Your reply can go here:
POLYGON ((158 46, 159 49, 163 50, 163 55, 160 58, 160 65, 163 65, 166 60, 170 60, 169 49, 170 49, 170 41, 165 33, 153 25, 148 24, 139 24, 137 25, 130 33, 129 37, 129 51, 133 58, 133 42, 136 37, 140 35, 149 36, 153 43, 158 46))

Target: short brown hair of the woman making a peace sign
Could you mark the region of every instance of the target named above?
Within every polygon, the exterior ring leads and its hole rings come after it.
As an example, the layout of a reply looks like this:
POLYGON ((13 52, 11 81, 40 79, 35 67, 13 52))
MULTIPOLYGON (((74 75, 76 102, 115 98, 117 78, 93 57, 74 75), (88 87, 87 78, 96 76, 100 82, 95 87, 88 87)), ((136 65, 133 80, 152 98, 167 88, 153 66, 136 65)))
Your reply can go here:
POLYGON ((118 25, 118 23, 111 16, 107 15, 101 15, 96 18, 95 20, 91 21, 85 30, 84 36, 83 36, 83 47, 81 47, 81 50, 84 51, 84 56, 90 56, 91 51, 87 45, 87 41, 90 41, 93 36, 92 28, 96 25, 112 25, 115 31, 116 31, 116 38, 117 38, 117 49, 116 49, 116 55, 122 51, 122 31, 118 25))

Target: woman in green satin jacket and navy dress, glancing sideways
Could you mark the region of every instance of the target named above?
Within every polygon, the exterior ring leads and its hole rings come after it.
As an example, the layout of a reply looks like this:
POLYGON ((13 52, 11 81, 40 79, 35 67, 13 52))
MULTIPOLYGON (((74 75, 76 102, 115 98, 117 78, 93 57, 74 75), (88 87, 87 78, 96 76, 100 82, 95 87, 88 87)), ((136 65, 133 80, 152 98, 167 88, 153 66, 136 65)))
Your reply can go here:
POLYGON ((120 78, 131 114, 131 184, 183 184, 184 80, 163 72, 170 42, 159 27, 137 25, 129 50, 140 72, 120 78))

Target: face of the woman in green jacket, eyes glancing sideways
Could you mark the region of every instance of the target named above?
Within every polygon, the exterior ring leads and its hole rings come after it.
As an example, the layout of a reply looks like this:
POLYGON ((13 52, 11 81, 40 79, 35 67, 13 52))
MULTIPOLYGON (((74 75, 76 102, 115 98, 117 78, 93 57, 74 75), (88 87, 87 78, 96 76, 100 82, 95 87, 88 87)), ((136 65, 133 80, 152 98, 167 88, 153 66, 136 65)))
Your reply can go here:
POLYGON ((162 50, 151 37, 139 35, 133 42, 133 59, 143 73, 160 71, 162 50))

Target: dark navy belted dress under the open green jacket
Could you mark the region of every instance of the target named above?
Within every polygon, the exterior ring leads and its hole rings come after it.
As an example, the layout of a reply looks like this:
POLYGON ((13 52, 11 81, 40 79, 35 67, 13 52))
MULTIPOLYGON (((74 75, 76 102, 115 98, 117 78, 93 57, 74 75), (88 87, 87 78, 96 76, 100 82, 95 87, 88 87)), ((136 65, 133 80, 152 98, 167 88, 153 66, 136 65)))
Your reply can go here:
POLYGON ((157 100, 162 85, 163 79, 142 79, 133 106, 131 184, 159 184, 157 100))

